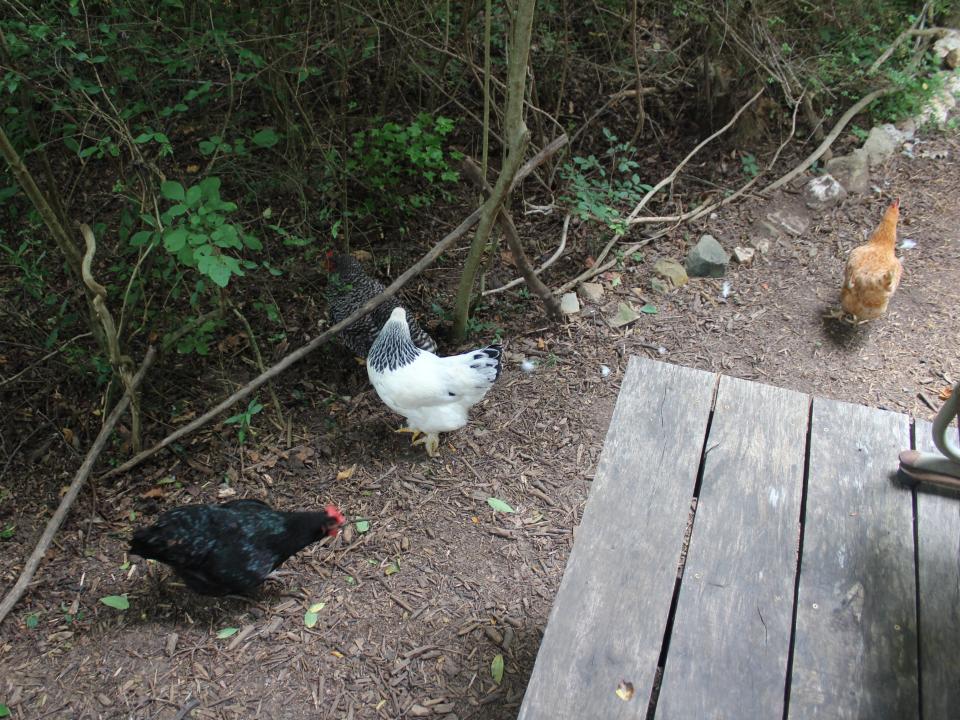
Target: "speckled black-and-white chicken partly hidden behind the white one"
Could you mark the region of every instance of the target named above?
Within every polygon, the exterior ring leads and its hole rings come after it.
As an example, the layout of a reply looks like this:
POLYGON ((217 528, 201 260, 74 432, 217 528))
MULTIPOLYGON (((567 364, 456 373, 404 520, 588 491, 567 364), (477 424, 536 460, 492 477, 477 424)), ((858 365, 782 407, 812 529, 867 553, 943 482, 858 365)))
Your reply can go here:
MULTIPOLYGON (((330 306, 330 322, 338 323, 353 313, 364 303, 383 292, 383 285, 363 271, 363 267, 352 255, 333 255, 330 253, 328 269, 336 273, 338 281, 327 286, 327 304, 330 306)), ((390 298, 377 309, 363 316, 340 332, 340 342, 355 355, 365 358, 377 339, 380 328, 390 317, 390 313, 400 303, 390 298)), ((416 320, 410 322, 410 335, 417 347, 428 352, 437 351, 437 343, 416 320)))

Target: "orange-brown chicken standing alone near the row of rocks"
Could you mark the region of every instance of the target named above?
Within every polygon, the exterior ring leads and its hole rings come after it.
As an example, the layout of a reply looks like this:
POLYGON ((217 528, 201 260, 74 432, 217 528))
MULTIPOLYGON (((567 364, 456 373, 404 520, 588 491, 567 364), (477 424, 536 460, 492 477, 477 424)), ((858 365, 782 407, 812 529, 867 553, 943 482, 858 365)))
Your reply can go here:
POLYGON ((903 266, 894 253, 899 219, 900 199, 897 198, 883 214, 870 239, 851 250, 847 258, 840 304, 858 322, 880 317, 900 284, 903 266))

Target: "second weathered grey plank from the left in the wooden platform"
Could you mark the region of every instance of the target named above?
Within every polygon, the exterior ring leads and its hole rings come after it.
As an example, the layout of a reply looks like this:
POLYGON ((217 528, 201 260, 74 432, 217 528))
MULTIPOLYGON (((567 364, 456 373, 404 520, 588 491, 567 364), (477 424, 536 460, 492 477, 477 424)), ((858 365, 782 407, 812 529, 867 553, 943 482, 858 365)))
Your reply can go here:
POLYGON ((720 379, 658 718, 783 717, 809 403, 720 379))

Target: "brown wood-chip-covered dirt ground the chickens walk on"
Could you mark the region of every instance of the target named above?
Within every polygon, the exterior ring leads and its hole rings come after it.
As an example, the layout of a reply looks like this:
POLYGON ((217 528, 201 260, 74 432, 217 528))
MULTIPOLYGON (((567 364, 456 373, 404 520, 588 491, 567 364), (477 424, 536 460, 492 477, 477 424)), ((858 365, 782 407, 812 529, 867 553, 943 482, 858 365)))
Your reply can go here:
MULTIPOLYGON (((731 265, 726 298, 721 280, 658 295, 649 286, 653 263, 682 262, 702 232, 728 248, 745 244, 764 207, 759 198, 658 240, 642 261, 628 259, 601 279, 600 302, 562 327, 531 320, 516 296, 498 296, 484 317, 502 328, 510 360, 471 424, 444 438, 439 460, 391 432, 398 419, 363 369, 331 348, 276 386, 289 434, 268 413, 246 446, 234 427, 212 426, 85 492, 0 626, 0 703, 16 718, 170 720, 183 717, 191 698, 199 701, 194 718, 515 717, 631 354, 933 416, 938 392, 960 378, 960 141, 933 136, 923 147, 946 157, 891 160, 874 175, 882 193, 848 199, 802 237, 774 241, 749 267, 731 265), (824 320, 847 252, 897 195, 900 237, 916 246, 901 251, 905 272, 888 314, 855 328, 824 320), (605 318, 620 302, 641 304, 638 295, 657 312, 612 329, 605 318), (533 372, 520 370, 521 357, 536 362, 533 372), (166 569, 125 555, 130 529, 158 511, 227 497, 284 509, 334 502, 369 528, 354 524, 308 548, 249 601, 200 598, 166 569), (516 512, 494 512, 491 497, 516 512), (124 593, 126 611, 99 602, 124 593), (307 627, 304 614, 318 603, 307 627), (491 675, 498 655, 500 684, 491 675)), ((536 227, 550 251, 560 218, 536 227)), ((548 283, 583 269, 596 244, 590 232, 574 224, 572 250, 548 283)), ((416 292, 449 287, 457 263, 450 254, 416 292)), ((315 332, 306 321, 301 329, 315 332)), ((231 387, 223 382, 221 391, 231 387)), ((179 389, 175 372, 148 388, 177 398, 173 424, 208 404, 180 400, 179 389)), ((8 419, 17 412, 26 411, 11 408, 8 419)), ((154 421, 158 437, 170 429, 154 421)), ((3 590, 79 463, 60 433, 44 447, 49 434, 24 443, 31 466, 5 460, 11 475, 0 476, 0 528, 16 525, 0 540, 3 590)))

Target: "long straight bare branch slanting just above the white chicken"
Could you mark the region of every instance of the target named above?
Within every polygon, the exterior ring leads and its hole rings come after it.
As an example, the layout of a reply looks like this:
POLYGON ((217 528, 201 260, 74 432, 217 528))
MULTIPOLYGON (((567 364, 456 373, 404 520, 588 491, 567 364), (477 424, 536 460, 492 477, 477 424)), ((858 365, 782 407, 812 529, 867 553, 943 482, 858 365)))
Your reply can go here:
MULTIPOLYGON (((510 186, 510 191, 512 191, 517 185, 519 185, 520 182, 525 177, 527 177, 527 175, 532 173, 539 165, 546 162, 550 157, 552 157, 557 150, 563 147, 565 142, 566 142, 566 136, 557 138, 556 140, 551 142, 549 145, 547 145, 545 148, 543 148, 543 150, 538 152, 534 157, 532 157, 530 160, 524 163, 523 167, 521 167, 520 170, 517 171, 517 174, 513 179, 513 184, 510 186)), ((311 340, 308 344, 304 345, 302 348, 299 348, 298 350, 295 350, 289 355, 287 355, 286 357, 284 357, 282 360, 280 360, 280 362, 268 368, 266 372, 260 373, 260 375, 258 375, 253 380, 248 382, 246 385, 244 385, 242 388, 240 388, 235 393, 230 395, 228 398, 226 398, 225 400, 221 401, 220 403, 212 407, 210 410, 205 412, 196 420, 188 423, 187 425, 184 425, 182 428, 171 433, 170 435, 165 437, 163 440, 158 442, 153 447, 147 448, 146 450, 140 453, 137 453, 122 465, 119 465, 113 468, 112 470, 110 470, 109 472, 104 473, 97 479, 105 480, 115 475, 119 475, 120 473, 124 473, 136 467, 137 465, 142 463, 144 460, 146 460, 148 457, 156 454, 157 452, 167 447, 171 443, 174 443, 180 438, 184 437, 185 435, 189 435, 194 430, 197 430, 198 428, 203 427, 208 422, 210 422, 213 418, 215 418, 217 415, 222 413, 224 410, 231 407, 233 404, 239 402, 240 400, 243 400, 248 395, 253 393, 261 385, 277 377, 280 373, 282 373, 288 367, 305 358, 311 352, 313 352, 318 347, 320 347, 324 342, 329 340, 333 335, 340 332, 345 327, 352 325, 354 322, 364 317, 365 315, 369 315, 376 308, 382 305, 388 298, 393 297, 397 293, 397 291, 400 288, 402 288, 404 285, 406 285, 408 282, 410 282, 411 279, 413 279, 414 277, 419 275, 421 272, 423 272, 434 260, 436 260, 440 256, 441 253, 443 253, 447 248, 449 248, 454 242, 456 242, 461 237, 466 235, 467 232, 470 230, 470 228, 472 228, 480 219, 480 214, 482 210, 483 208, 477 208, 472 213, 470 213, 470 215, 463 222, 461 222, 456 228, 454 228, 446 237, 440 240, 440 242, 434 245, 426 255, 420 258, 420 260, 418 260, 416 263, 411 265, 410 268, 406 270, 406 272, 404 272, 396 280, 390 283, 390 285, 382 293, 368 300, 358 310, 348 315, 346 318, 338 322, 333 327, 320 333, 317 337, 311 340)))

